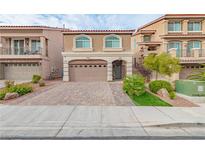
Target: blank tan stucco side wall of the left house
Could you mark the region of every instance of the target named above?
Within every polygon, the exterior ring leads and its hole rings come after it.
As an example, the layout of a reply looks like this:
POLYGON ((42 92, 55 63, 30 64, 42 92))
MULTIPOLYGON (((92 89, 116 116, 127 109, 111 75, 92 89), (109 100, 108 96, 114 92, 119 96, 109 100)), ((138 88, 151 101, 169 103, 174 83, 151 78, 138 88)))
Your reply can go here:
POLYGON ((63 35, 61 31, 44 30, 43 34, 48 38, 48 57, 50 63, 50 71, 52 68, 58 72, 58 77, 62 77, 63 73, 63 35))

